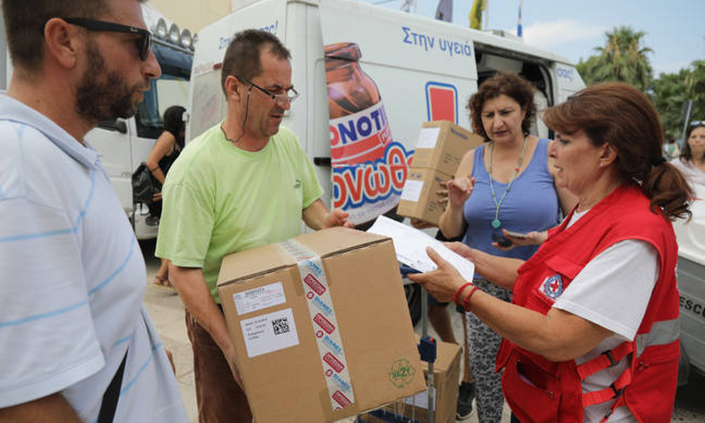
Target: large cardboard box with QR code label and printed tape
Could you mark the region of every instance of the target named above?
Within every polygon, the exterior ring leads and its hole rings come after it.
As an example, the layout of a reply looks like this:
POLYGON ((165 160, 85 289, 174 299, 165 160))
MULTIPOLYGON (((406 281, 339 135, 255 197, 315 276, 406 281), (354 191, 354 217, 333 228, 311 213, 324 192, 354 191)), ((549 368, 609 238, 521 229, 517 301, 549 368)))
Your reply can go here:
POLYGON ((237 252, 218 289, 257 423, 333 422, 424 389, 390 238, 331 228, 237 252))

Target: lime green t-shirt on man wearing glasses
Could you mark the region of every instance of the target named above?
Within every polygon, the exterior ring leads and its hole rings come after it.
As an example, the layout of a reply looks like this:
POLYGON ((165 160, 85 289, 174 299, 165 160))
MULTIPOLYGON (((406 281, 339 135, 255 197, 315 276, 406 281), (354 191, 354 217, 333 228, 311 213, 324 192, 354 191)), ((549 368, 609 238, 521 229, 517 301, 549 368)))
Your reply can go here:
POLYGON ((192 140, 169 169, 154 255, 202 268, 211 295, 223 256, 301 231, 302 210, 323 194, 298 138, 280 127, 259 152, 226 140, 219 125, 192 140))

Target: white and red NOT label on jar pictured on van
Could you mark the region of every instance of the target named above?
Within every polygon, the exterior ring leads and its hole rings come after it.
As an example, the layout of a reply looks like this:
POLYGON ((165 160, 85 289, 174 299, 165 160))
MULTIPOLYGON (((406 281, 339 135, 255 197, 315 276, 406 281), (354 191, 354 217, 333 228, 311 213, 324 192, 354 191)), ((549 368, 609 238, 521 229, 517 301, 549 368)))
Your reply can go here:
POLYGON ((333 166, 381 159, 392 140, 382 102, 355 114, 331 119, 329 128, 333 166))

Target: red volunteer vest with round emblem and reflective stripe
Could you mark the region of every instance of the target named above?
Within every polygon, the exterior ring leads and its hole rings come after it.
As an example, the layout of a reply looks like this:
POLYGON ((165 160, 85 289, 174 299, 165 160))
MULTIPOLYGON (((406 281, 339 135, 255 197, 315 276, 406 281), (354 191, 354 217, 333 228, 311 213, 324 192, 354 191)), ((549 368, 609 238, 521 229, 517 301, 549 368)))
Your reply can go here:
POLYGON ((584 407, 606 401, 611 401, 611 410, 626 405, 639 422, 670 422, 680 355, 678 246, 673 226, 650 211, 649 200, 634 185, 617 188, 566 229, 568 221, 570 216, 549 232, 544 245, 520 267, 513 288, 515 304, 548 313, 591 259, 622 240, 653 245, 661 272, 635 340, 594 360, 580 366, 575 360, 550 362, 504 340, 497 369, 504 369, 507 402, 523 423, 582 422, 584 407), (583 379, 627 355, 629 367, 610 388, 582 393, 583 379))

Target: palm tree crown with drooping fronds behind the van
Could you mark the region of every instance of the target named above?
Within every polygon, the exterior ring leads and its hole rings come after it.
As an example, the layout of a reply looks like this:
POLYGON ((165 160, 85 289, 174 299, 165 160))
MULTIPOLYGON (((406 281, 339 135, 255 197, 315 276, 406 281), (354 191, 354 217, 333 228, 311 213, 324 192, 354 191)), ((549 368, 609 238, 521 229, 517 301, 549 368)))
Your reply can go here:
POLYGON ((599 53, 590 56, 587 61, 577 64, 577 71, 587 85, 596 82, 627 82, 640 90, 649 90, 653 71, 646 56, 653 50, 642 46, 643 31, 632 27, 614 27, 605 32, 606 42, 603 47, 595 47, 599 53))

